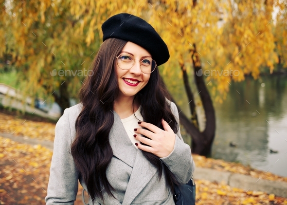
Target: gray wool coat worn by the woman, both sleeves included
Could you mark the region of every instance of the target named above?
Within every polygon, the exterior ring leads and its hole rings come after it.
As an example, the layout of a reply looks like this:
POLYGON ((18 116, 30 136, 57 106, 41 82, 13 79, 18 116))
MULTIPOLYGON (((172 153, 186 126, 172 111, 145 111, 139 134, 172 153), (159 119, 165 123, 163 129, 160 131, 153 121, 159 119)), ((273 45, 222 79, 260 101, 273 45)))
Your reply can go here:
MULTIPOLYGON (((177 122, 179 113, 176 105, 168 101, 177 122)), ((78 191, 78 180, 87 191, 81 174, 75 167, 70 153, 75 138, 75 121, 82 110, 82 104, 67 108, 55 127, 54 152, 50 178, 45 197, 46 205, 73 205, 78 191)), ((158 179, 157 168, 144 156, 141 149, 131 143, 119 115, 114 113, 114 124, 109 133, 113 157, 107 169, 107 178, 117 198, 109 197, 103 189, 105 203, 100 198, 93 205, 175 205, 164 174, 158 179)), ((160 160, 185 184, 191 178, 195 165, 190 147, 183 142, 180 130, 176 133, 173 151, 160 160)), ((83 199, 83 194, 82 194, 83 199)), ((92 205, 88 197, 83 199, 92 205)), ((84 204, 85 201, 83 201, 84 204)))

